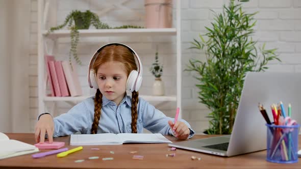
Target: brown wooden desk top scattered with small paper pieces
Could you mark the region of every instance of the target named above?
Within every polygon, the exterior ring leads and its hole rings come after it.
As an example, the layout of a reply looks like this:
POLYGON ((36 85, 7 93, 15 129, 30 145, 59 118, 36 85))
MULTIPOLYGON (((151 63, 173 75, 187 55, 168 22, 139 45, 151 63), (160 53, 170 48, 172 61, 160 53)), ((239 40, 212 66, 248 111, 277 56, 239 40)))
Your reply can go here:
MULTIPOLYGON (((35 144, 32 133, 7 133, 11 139, 17 139, 29 144, 35 144)), ((193 139, 205 138, 213 135, 195 135, 193 139)), ((179 140, 166 136, 172 142, 179 140)), ((77 146, 69 145, 69 136, 54 138, 56 142, 65 142, 69 149, 77 146)), ((301 135, 299 135, 299 149, 301 149, 301 135)), ((266 144, 266 143, 263 143, 266 144)), ((0 168, 301 168, 300 162, 293 164, 271 163, 265 160, 266 151, 249 153, 235 157, 219 157, 204 153, 177 149, 168 151, 167 144, 126 144, 114 146, 83 146, 80 152, 72 153, 63 158, 56 155, 33 159, 31 154, 0 160, 0 168), (91 150, 99 148, 100 150, 91 150), (111 154, 110 151, 114 151, 111 154), (131 154, 130 151, 137 151, 131 154), (166 154, 175 153, 175 157, 166 157, 166 154), (143 160, 132 159, 133 155, 143 155, 143 160), (91 156, 99 159, 89 160, 91 156), (201 157, 202 160, 191 160, 191 156, 201 157), (104 157, 113 157, 114 160, 103 161, 104 157), (85 159, 75 163, 74 160, 85 159)), ((44 152, 42 150, 41 152, 44 152)), ((46 150, 48 151, 48 150, 46 150)), ((300 158, 299 158, 300 160, 300 158)))

